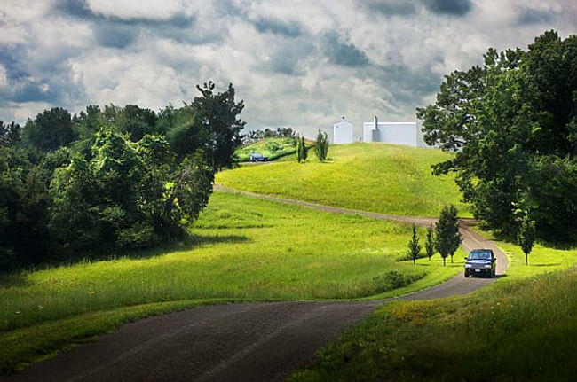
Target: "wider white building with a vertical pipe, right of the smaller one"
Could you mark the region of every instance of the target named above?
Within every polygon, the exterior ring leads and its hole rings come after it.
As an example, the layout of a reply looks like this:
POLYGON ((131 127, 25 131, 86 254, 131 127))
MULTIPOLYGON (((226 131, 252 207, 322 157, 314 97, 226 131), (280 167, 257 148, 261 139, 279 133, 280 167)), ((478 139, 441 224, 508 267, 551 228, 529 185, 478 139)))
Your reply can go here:
POLYGON ((384 144, 406 144, 416 147, 416 122, 372 122, 363 123, 363 142, 382 142, 384 144))

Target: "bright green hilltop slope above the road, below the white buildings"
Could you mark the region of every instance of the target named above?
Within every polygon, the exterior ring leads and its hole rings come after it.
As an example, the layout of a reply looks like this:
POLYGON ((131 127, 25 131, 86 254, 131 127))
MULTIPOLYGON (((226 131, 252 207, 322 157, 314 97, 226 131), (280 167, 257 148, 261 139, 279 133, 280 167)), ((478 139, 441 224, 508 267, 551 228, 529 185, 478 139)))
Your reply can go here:
POLYGON ((287 157, 235 168, 219 173, 217 183, 383 214, 438 216, 452 203, 461 216, 470 216, 454 176, 431 175, 431 165, 452 158, 450 153, 392 144, 342 144, 331 145, 328 157, 320 163, 310 150, 304 163, 287 157))

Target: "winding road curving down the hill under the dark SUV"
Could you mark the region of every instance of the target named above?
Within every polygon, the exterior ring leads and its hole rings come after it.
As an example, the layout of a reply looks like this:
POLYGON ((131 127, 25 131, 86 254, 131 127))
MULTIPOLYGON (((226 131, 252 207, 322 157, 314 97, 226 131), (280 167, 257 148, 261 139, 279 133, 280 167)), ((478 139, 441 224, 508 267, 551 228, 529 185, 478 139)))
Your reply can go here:
MULTIPOLYGON (((217 185, 218 191, 239 192, 337 214, 430 225, 433 218, 395 216, 321 206, 275 198, 217 185)), ((507 258, 489 240, 460 225, 462 246, 492 248, 497 273, 507 258)), ((404 300, 435 299, 464 294, 493 282, 465 279, 462 273, 446 283, 401 296, 404 300)), ((314 352, 358 324, 376 307, 392 300, 292 301, 205 306, 125 324, 95 342, 37 363, 7 381, 270 381, 312 363, 314 352)))

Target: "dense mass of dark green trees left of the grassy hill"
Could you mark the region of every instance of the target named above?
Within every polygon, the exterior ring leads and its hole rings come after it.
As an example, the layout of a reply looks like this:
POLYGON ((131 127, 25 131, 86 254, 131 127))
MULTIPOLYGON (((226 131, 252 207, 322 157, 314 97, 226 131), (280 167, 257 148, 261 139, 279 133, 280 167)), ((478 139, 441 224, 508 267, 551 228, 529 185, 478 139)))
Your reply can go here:
POLYGON ((89 105, 0 122, 0 271, 186 235, 241 143, 242 101, 214 88, 159 113, 89 105))

